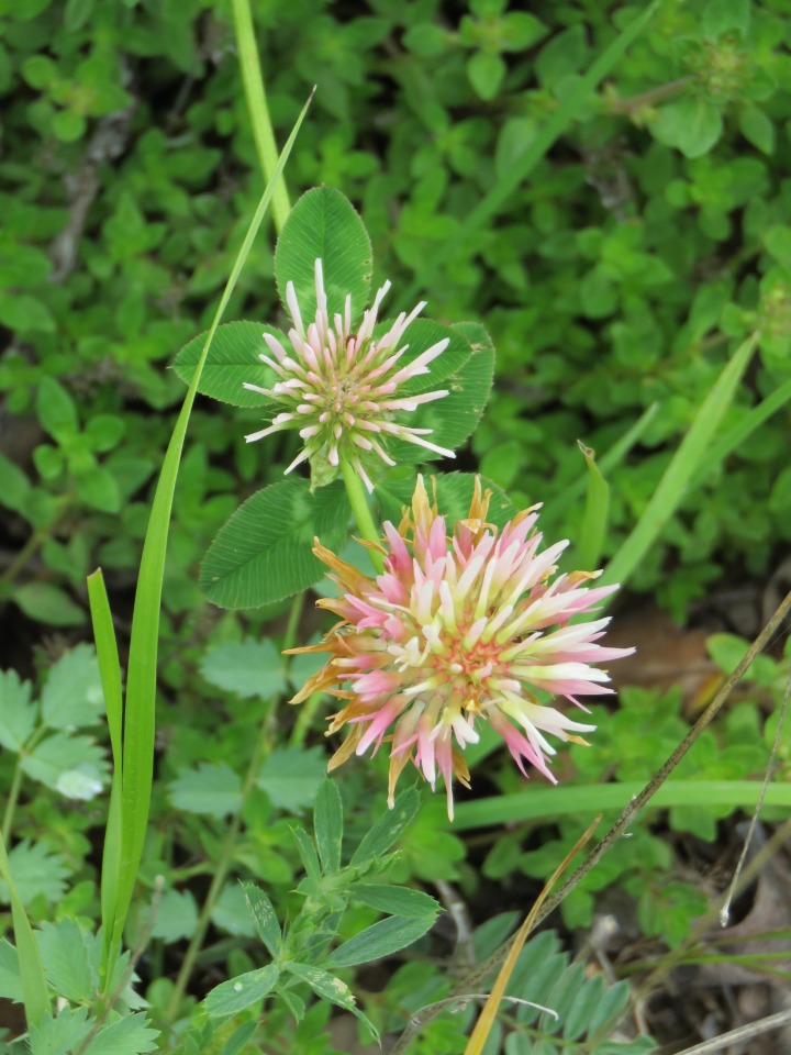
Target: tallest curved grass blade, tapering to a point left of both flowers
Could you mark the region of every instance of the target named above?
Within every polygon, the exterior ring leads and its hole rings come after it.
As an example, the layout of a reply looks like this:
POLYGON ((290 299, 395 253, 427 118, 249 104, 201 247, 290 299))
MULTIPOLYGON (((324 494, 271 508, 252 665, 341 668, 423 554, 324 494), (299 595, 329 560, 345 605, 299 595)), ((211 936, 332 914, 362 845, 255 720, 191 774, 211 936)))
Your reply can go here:
MULTIPOLYGON (((311 95, 312 99, 312 95, 311 95)), ((190 382, 183 407, 176 422, 168 445, 161 473, 157 482, 137 579, 132 638, 126 685, 126 712, 123 743, 123 795, 122 795, 122 852, 118 877, 119 896, 113 928, 113 949, 120 948, 132 892, 137 878, 137 868, 143 855, 143 843, 148 824, 152 780, 154 770, 154 733, 156 701, 156 663, 159 634, 159 607, 161 602, 165 553, 167 547, 170 511, 172 508, 176 478, 187 424, 198 389, 200 373, 211 346, 212 338, 227 307, 245 260, 264 220, 278 177, 282 173, 299 129, 308 112, 311 99, 305 103, 289 136, 288 143, 258 203, 247 234, 233 266, 225 291, 214 315, 200 362, 190 382)))

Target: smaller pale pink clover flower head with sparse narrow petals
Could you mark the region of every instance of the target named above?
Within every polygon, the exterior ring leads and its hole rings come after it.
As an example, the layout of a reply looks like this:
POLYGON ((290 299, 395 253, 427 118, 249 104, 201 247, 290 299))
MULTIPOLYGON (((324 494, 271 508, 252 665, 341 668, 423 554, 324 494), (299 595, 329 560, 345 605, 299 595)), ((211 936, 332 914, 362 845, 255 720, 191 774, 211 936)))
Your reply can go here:
POLYGON ((352 296, 346 297, 343 314, 336 313, 331 319, 322 262, 317 259, 315 319, 305 324, 293 282, 288 282, 286 302, 293 321, 288 333, 291 347, 283 347, 277 337, 265 333, 270 355, 260 356, 278 380, 271 388, 244 385, 283 408, 266 429, 245 436, 247 442, 297 429, 304 446, 286 473, 302 462, 310 462, 313 486, 334 480, 341 471, 341 462, 345 460, 372 491, 368 473, 371 465, 377 460, 396 464, 387 452, 390 436, 454 457, 453 451, 425 438, 431 429, 412 427, 399 420, 421 403, 448 395, 447 389, 421 395, 403 392, 411 378, 430 373, 428 364, 445 351, 448 338, 404 362, 409 348, 409 344, 403 343, 404 334, 425 302, 409 314, 402 312, 385 333, 375 336, 379 308, 389 289, 390 282, 386 282, 353 332, 352 296))

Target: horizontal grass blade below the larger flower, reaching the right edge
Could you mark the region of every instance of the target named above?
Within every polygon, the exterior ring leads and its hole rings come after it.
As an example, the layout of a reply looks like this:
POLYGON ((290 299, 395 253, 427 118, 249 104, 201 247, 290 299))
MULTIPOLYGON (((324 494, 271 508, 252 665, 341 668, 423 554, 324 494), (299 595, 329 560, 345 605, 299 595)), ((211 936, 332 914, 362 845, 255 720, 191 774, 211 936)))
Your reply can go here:
MULTIPOLYGON (((593 817, 621 811, 643 790, 643 784, 591 784, 547 788, 535 785, 517 795, 499 795, 472 802, 457 802, 454 829, 488 828, 556 817, 593 817)), ((649 809, 715 807, 750 809, 761 793, 760 780, 668 780, 651 798, 649 809)), ((791 785, 771 784, 766 806, 791 807, 791 785)), ((450 822, 448 821, 448 824, 450 822)))

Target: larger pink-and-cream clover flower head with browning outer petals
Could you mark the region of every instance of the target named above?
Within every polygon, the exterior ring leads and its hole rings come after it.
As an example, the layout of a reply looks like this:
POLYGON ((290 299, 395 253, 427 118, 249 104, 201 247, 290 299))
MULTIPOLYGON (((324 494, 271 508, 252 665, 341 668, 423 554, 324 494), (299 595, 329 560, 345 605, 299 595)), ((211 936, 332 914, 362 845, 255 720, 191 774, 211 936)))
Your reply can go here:
POLYGON ((556 782, 546 734, 584 744, 577 734, 594 726, 539 702, 536 690, 586 710, 578 696, 612 691, 594 664, 634 652, 598 644, 609 619, 570 623, 617 587, 591 588, 598 571, 558 575, 568 543, 541 551, 539 507, 499 531, 486 520, 489 498, 478 480, 469 517, 449 535, 419 477, 399 528, 385 524, 385 570, 376 579, 314 548, 339 587, 336 599, 317 603, 342 622, 319 645, 296 649, 331 655, 292 702, 316 690, 343 700, 328 732, 347 735, 331 769, 389 744, 390 806, 412 760, 432 788, 442 776, 453 819, 453 778, 469 787, 461 753, 483 722, 525 776, 528 764, 556 782))

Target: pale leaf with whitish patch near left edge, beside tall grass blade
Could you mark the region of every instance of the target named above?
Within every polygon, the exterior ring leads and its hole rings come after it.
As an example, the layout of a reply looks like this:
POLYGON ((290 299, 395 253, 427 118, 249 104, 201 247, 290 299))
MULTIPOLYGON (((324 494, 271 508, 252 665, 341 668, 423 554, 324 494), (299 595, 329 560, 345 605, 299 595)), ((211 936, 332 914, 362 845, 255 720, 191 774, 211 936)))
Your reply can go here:
POLYGON ((92 736, 54 733, 22 759, 22 768, 67 799, 88 801, 102 790, 109 773, 104 751, 92 736))

